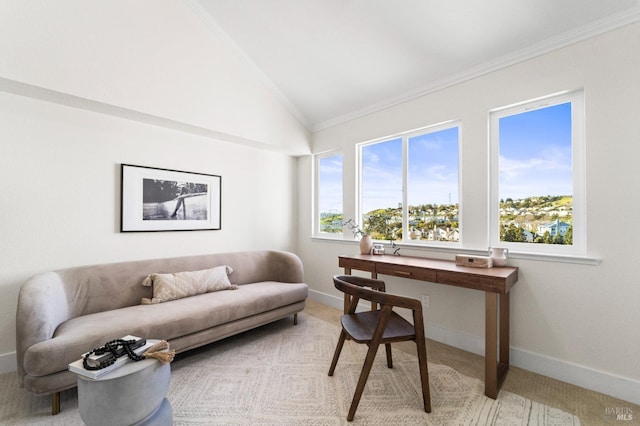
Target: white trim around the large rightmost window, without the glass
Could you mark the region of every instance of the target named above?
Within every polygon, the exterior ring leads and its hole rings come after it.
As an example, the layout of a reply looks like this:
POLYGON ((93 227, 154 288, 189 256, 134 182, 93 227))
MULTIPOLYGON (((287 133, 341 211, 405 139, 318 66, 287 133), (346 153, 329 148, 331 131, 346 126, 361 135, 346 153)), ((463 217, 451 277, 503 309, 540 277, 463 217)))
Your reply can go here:
POLYGON ((584 93, 567 91, 521 102, 489 112, 489 224, 490 247, 506 247, 514 257, 536 258, 548 255, 558 261, 586 258, 586 141, 584 132, 584 93), (499 212, 499 120, 525 111, 571 102, 572 174, 573 174, 573 244, 536 244, 500 241, 499 212))

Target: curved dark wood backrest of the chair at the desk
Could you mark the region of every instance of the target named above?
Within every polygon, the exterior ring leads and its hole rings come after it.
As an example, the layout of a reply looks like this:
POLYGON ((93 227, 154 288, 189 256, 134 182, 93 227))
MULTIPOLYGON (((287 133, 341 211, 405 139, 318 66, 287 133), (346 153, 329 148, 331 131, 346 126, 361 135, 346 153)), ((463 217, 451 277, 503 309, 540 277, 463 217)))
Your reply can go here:
POLYGON ((381 306, 397 306, 420 312, 422 303, 418 299, 387 293, 384 281, 354 275, 335 275, 334 286, 352 297, 348 313, 354 313, 359 299, 375 302, 381 306))

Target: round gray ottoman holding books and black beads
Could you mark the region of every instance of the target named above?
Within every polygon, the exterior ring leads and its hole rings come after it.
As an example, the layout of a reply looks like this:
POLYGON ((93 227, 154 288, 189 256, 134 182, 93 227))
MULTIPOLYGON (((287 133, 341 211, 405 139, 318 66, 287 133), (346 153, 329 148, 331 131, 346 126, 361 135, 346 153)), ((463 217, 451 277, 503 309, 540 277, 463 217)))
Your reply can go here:
POLYGON ((89 426, 171 425, 170 366, 145 359, 96 380, 78 375, 80 417, 89 426))

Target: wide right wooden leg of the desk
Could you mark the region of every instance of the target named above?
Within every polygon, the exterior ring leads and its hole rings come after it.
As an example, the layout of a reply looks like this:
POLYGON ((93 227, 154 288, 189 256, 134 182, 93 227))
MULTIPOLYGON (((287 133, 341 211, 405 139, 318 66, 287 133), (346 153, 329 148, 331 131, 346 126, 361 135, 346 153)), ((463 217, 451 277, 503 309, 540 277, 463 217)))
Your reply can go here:
POLYGON ((496 399, 509 369, 509 293, 486 292, 484 369, 484 393, 496 399))

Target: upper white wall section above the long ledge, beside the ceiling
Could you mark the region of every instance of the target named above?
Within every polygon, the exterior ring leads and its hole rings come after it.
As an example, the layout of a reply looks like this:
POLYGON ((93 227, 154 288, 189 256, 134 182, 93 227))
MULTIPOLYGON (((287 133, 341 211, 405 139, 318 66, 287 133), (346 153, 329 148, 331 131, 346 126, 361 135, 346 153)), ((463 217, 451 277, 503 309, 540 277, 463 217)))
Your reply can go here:
POLYGON ((0 2, 0 78, 308 152, 308 135, 187 1, 0 2))

